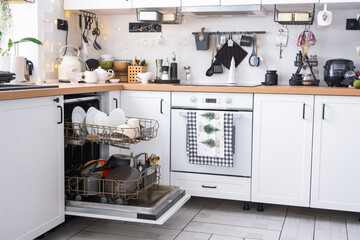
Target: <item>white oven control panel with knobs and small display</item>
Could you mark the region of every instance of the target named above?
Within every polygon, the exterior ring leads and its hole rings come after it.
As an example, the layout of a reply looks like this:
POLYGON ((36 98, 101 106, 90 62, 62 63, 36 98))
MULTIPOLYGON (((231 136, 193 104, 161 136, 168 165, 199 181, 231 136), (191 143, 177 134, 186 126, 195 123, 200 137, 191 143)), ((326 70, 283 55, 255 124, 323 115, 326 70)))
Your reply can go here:
POLYGON ((253 94, 173 92, 172 107, 252 109, 253 94))

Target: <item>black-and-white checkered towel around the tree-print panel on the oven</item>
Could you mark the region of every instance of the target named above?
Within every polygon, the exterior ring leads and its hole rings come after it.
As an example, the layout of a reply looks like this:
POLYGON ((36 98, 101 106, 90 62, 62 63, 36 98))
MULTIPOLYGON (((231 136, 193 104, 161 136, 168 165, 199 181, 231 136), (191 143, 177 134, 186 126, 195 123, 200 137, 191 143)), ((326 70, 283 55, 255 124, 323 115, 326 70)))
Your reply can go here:
MULTIPOLYGON (((199 113, 199 111, 197 111, 199 113)), ((214 113, 209 111, 201 111, 201 113, 214 113)), ((233 167, 233 114, 224 114, 224 156, 199 156, 198 155, 198 122, 196 120, 196 112, 187 112, 187 154, 190 164, 213 165, 222 167, 233 167)), ((210 115, 211 116, 211 115, 210 115)), ((211 122, 211 121, 210 121, 211 122)), ((207 144, 209 148, 214 147, 211 141, 207 144)))

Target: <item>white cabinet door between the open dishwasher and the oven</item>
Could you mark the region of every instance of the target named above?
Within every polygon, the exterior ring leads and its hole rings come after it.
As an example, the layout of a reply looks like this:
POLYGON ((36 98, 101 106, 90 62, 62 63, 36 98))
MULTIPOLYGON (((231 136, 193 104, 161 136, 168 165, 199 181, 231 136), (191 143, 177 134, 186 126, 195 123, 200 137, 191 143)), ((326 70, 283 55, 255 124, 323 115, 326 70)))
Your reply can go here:
POLYGON ((127 116, 151 118, 159 122, 158 135, 148 142, 131 146, 134 154, 146 152, 160 157, 160 183, 169 185, 170 175, 170 93, 122 91, 121 108, 127 116))

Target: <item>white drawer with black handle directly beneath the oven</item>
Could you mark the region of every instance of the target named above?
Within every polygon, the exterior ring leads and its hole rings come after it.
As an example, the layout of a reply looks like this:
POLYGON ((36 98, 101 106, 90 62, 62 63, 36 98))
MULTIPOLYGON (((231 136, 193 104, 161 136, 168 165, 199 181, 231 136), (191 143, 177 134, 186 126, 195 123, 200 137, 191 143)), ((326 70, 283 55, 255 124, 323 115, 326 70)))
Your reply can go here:
POLYGON ((191 196, 250 201, 250 178, 171 172, 171 185, 191 196))

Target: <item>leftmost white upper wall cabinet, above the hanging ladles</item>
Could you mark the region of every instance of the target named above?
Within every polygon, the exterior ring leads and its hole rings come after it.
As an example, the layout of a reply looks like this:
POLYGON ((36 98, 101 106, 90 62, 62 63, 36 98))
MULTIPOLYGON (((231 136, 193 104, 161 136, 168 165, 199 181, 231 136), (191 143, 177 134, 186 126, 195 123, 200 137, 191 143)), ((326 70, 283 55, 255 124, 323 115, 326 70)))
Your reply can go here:
POLYGON ((64 0, 64 10, 79 9, 126 9, 131 8, 131 0, 64 0))

